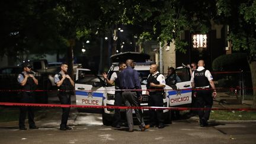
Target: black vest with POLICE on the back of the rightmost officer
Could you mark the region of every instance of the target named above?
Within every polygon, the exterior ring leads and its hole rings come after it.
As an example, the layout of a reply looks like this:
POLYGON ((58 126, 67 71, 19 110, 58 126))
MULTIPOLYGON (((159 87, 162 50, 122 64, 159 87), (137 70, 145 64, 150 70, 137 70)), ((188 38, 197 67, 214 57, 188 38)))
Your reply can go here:
POLYGON ((196 88, 207 87, 210 85, 207 77, 205 76, 206 69, 202 71, 194 71, 194 83, 196 88))

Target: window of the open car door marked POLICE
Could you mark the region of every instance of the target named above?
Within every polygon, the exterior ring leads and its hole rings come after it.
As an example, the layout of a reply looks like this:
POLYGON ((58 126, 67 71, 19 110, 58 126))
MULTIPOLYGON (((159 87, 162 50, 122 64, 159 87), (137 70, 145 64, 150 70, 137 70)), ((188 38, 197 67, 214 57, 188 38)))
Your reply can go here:
POLYGON ((79 71, 76 83, 92 85, 93 82, 100 82, 100 79, 92 71, 79 71))

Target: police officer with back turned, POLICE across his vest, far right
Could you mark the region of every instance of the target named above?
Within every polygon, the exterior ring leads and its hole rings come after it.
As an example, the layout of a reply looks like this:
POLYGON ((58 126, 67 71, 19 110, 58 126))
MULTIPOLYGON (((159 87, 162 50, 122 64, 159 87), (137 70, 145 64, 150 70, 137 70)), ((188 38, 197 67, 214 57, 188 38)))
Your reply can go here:
POLYGON ((215 84, 210 71, 204 69, 204 60, 199 60, 198 68, 192 73, 191 84, 196 88, 196 102, 199 108, 206 110, 198 110, 200 126, 208 126, 207 120, 210 117, 210 108, 213 105, 213 98, 216 97, 215 84))

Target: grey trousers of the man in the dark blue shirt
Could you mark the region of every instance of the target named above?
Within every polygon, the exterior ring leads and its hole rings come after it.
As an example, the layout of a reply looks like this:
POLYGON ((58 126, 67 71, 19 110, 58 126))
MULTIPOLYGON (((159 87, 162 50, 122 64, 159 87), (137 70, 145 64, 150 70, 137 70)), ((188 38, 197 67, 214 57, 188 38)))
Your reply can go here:
MULTIPOLYGON (((122 96, 123 96, 124 104, 127 107, 131 107, 131 106, 139 107, 140 106, 136 92, 124 91, 124 92, 122 92, 122 96)), ((139 120, 140 127, 145 127, 145 123, 144 123, 144 120, 142 117, 142 110, 135 109, 135 113, 136 113, 137 119, 139 120)), ((132 109, 126 109, 126 119, 127 119, 129 129, 132 130, 133 129, 132 109)))

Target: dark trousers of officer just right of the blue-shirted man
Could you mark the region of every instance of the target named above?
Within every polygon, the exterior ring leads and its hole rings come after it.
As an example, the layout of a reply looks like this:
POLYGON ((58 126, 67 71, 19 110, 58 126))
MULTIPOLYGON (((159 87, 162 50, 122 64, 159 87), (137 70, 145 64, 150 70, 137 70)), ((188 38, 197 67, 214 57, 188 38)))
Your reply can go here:
MULTIPOLYGON (((150 92, 149 107, 164 107, 162 93, 150 92)), ((151 124, 164 123, 163 110, 149 110, 151 124)))

